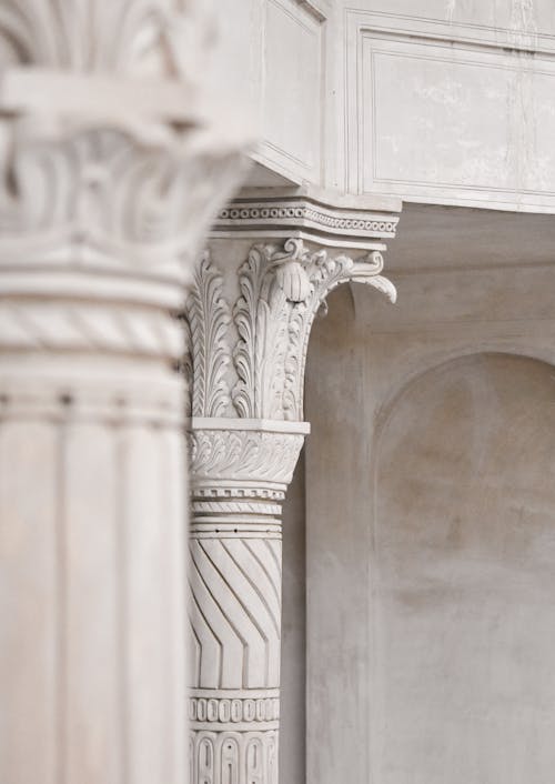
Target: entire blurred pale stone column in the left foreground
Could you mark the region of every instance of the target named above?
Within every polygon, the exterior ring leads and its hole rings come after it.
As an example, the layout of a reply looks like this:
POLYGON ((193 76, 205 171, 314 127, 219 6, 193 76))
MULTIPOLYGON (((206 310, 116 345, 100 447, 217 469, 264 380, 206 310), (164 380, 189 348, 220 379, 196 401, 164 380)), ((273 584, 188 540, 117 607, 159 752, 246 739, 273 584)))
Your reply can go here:
POLYGON ((6 784, 185 781, 175 313, 240 164, 139 6, 0 9, 6 784))

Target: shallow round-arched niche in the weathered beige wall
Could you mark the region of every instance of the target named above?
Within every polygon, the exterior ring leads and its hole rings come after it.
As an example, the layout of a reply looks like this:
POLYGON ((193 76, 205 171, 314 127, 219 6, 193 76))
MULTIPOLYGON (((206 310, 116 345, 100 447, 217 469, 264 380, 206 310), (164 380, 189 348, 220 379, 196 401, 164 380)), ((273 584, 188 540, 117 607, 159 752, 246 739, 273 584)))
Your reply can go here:
POLYGON ((376 784, 551 784, 555 370, 484 353, 398 393, 374 450, 376 784))

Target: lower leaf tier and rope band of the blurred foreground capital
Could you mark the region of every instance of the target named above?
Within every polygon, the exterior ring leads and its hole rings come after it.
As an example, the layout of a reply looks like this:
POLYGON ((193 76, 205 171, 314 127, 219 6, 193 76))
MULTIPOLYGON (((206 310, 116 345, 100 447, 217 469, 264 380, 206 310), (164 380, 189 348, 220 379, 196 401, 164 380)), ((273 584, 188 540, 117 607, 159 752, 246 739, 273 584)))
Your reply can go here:
POLYGON ((191 131, 14 127, 0 181, 0 345, 176 362, 192 259, 240 171, 191 131), (210 184, 208 184, 210 183, 210 184))

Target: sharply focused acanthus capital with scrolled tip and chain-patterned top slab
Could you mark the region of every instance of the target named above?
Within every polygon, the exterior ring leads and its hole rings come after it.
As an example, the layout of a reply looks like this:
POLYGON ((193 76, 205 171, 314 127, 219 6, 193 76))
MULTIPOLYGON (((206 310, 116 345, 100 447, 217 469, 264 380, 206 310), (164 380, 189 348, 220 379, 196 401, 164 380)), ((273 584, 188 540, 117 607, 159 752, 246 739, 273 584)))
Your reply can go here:
POLYGON ((221 211, 185 308, 191 414, 301 421, 310 332, 327 294, 359 282, 395 301, 382 252, 397 220, 305 195, 221 211))

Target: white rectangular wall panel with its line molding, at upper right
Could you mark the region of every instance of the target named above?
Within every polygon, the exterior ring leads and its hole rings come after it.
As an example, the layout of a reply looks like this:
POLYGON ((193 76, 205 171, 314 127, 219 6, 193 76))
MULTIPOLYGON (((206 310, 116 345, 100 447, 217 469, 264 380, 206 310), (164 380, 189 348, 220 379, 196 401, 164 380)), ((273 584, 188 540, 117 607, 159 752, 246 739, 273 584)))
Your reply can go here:
POLYGON ((384 18, 346 16, 349 190, 552 211, 555 40, 384 18))

